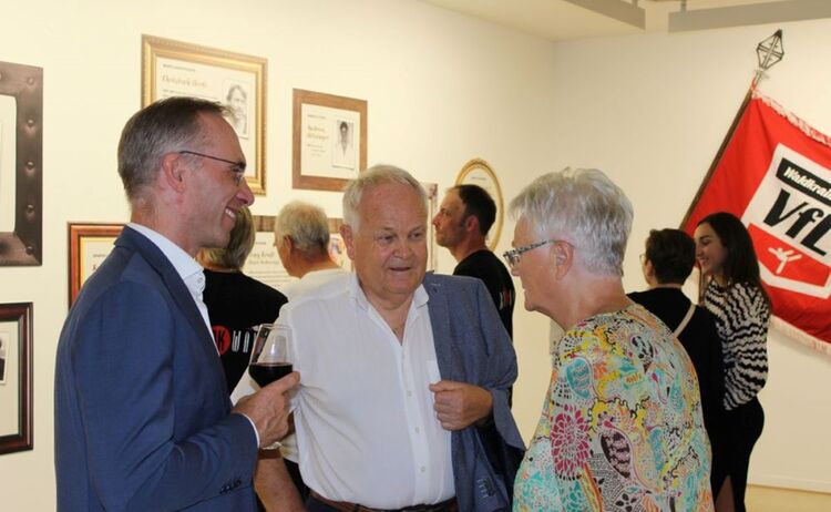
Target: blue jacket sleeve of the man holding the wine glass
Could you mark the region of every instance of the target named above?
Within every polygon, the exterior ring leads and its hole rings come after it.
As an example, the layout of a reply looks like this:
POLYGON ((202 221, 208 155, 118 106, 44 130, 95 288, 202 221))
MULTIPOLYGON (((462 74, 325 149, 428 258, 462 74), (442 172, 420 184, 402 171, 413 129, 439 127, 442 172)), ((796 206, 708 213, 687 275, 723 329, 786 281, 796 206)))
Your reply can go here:
POLYGON ((122 281, 75 326, 71 360, 88 471, 106 510, 184 509, 252 480, 257 441, 245 417, 218 411, 214 424, 177 431, 176 393, 204 400, 206 410, 216 402, 199 392, 198 378, 176 371, 193 332, 176 311, 151 286, 122 281))

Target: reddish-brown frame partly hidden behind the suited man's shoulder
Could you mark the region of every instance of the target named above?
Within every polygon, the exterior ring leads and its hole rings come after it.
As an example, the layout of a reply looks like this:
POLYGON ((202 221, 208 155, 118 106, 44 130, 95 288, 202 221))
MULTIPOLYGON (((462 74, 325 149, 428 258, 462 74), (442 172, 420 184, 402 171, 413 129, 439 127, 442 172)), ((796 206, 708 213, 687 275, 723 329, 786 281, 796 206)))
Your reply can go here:
POLYGON ((70 306, 86 279, 110 255, 123 228, 123 224, 69 224, 70 306))

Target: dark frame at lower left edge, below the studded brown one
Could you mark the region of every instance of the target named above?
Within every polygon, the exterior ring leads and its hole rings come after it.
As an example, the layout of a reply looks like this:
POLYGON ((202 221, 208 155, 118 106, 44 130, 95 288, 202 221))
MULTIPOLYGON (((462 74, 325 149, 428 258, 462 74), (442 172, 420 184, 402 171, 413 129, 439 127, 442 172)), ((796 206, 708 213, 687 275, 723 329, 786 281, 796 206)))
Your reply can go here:
POLYGON ((32 303, 0 304, 0 453, 31 450, 32 303))

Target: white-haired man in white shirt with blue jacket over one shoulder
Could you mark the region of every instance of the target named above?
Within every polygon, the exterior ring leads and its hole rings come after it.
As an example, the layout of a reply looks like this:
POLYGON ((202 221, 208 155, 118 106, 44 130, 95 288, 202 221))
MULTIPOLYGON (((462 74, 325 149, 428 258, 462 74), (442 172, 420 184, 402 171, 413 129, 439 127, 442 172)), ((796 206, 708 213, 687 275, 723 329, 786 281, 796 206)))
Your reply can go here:
MULTIPOLYGON (((425 275, 425 195, 400 168, 362 172, 343 222, 355 274, 277 319, 304 376, 295 427, 307 509, 510 510, 524 453, 507 400, 516 356, 488 290, 425 275)), ((296 500, 281 473, 260 462, 264 500, 296 500)))

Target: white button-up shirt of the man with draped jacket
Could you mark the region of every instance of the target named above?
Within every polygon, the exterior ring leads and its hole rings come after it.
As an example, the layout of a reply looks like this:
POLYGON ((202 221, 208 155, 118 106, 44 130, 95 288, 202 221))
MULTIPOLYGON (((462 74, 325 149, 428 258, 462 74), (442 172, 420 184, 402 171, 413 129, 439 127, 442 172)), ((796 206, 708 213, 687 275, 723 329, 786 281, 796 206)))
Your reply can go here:
POLYGON ((293 402, 300 473, 324 496, 401 509, 455 495, 450 432, 428 388, 441 378, 427 301, 420 286, 403 342, 355 274, 280 310, 301 376, 293 402))

